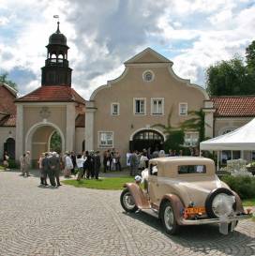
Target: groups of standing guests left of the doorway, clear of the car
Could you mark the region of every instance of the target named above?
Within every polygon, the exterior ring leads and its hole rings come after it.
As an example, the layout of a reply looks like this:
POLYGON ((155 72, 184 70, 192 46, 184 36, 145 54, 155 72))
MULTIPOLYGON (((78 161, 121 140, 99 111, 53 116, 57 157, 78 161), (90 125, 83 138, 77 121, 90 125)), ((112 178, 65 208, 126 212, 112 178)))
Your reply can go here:
MULTIPOLYGON (((114 148, 106 150, 103 153, 103 172, 121 171, 120 154, 114 148)), ((27 151, 20 158, 21 172, 23 176, 30 176, 29 167, 31 164, 30 152, 27 151)), ((40 176, 40 185, 48 186, 48 178, 53 187, 61 186, 59 175, 64 173, 65 177, 76 176, 77 180, 82 178, 98 179, 98 174, 101 168, 101 158, 99 151, 84 151, 81 154, 74 152, 66 152, 60 155, 56 152, 42 153, 38 161, 38 169, 40 176)))

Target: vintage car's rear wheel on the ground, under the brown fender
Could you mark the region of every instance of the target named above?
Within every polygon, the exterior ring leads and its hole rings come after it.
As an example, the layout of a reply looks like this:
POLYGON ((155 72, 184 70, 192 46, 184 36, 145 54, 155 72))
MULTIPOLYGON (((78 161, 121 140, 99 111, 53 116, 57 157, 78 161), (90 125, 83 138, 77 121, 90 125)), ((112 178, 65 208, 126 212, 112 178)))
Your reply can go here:
POLYGON ((161 219, 166 233, 178 233, 180 226, 174 216, 173 205, 170 201, 163 204, 161 219))

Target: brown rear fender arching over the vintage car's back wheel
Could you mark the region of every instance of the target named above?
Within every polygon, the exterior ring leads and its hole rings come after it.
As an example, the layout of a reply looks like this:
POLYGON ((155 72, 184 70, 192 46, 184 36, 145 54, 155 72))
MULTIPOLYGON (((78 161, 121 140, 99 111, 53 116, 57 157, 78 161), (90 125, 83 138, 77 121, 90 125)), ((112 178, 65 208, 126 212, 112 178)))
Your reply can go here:
POLYGON ((184 204, 182 203, 181 199, 174 195, 174 194, 166 194, 163 196, 160 206, 159 206, 159 217, 161 218, 161 210, 164 202, 170 201, 173 205, 173 212, 174 217, 179 225, 182 225, 182 218, 183 218, 183 211, 184 211, 184 204))

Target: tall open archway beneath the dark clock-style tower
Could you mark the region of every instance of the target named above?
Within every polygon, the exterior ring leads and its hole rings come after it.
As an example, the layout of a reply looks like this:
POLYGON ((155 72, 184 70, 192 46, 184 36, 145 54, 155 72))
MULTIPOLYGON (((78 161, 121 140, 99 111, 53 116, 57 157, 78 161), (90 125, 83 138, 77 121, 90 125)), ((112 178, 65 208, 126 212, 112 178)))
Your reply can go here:
POLYGON ((65 151, 65 137, 60 128, 52 123, 38 123, 30 128, 25 137, 25 151, 31 152, 32 163, 35 163, 42 152, 55 151, 51 148, 52 136, 55 131, 60 136, 60 152, 65 151))

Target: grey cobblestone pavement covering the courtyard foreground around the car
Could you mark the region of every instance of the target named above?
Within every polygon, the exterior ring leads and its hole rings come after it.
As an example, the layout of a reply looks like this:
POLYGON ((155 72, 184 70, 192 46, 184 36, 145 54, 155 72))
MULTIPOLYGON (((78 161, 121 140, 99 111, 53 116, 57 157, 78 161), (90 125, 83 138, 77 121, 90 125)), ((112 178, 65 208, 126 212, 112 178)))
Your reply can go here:
POLYGON ((168 236, 158 219, 124 213, 119 195, 68 186, 40 188, 38 178, 0 172, 0 255, 255 255, 250 220, 226 236, 208 225, 168 236))

